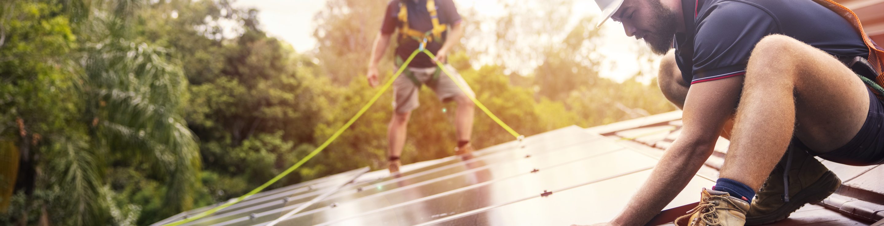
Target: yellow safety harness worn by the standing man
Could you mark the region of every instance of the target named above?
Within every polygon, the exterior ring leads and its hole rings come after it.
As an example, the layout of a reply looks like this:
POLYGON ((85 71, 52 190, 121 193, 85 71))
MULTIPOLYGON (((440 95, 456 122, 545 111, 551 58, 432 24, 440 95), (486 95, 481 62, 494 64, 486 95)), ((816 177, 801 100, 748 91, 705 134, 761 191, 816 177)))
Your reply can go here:
MULTIPOLYGON (((430 12, 430 19, 433 24, 433 28, 428 32, 420 32, 415 29, 411 29, 411 27, 408 26, 408 7, 406 7, 406 5, 404 3, 402 3, 402 1, 407 1, 407 0, 401 0, 399 3, 399 21, 401 24, 401 26, 399 27, 400 41, 402 39, 407 39, 407 38, 415 39, 415 41, 418 41, 421 43, 421 47, 419 50, 423 50, 424 48, 426 48, 428 42, 433 42, 433 41, 437 41, 439 43, 445 42, 445 40, 442 37, 442 33, 446 32, 446 30, 448 29, 448 26, 446 26, 445 24, 439 23, 438 11, 437 11, 438 9, 436 8, 435 1, 427 0, 427 11, 430 12)), ((402 60, 401 56, 397 55, 395 63, 396 63, 396 67, 400 67, 400 66, 402 66, 404 61, 402 60)), ((417 79, 417 77, 415 77, 414 72, 411 72, 410 70, 405 70, 405 72, 403 72, 403 73, 406 76, 408 76, 408 79, 411 79, 411 81, 414 82, 416 86, 418 86, 418 87, 421 86, 422 83, 419 79, 417 79)), ((441 70, 438 70, 438 69, 436 70, 436 72, 433 72, 432 80, 433 81, 438 80, 440 73, 441 73, 441 70)))

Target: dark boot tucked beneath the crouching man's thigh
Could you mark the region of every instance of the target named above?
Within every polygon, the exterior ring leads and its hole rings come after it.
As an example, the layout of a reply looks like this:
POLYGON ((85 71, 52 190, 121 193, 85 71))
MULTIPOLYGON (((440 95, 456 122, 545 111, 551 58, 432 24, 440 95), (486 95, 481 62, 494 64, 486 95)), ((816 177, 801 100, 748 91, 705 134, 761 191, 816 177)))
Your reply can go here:
POLYGON ((802 148, 789 147, 765 184, 758 189, 746 215, 746 225, 786 219, 804 204, 817 204, 826 199, 839 186, 841 179, 811 154, 802 148), (789 184, 783 184, 786 180, 789 184))

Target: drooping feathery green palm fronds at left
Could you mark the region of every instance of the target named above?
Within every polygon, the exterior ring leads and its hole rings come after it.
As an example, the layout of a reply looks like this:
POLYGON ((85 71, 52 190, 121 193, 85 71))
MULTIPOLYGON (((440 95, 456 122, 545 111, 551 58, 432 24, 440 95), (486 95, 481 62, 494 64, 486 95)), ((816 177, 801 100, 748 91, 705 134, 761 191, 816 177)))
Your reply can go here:
POLYGON ((145 157, 167 184, 170 211, 191 207, 199 147, 178 115, 187 87, 169 52, 146 43, 103 41, 83 61, 82 93, 94 130, 110 151, 145 157))

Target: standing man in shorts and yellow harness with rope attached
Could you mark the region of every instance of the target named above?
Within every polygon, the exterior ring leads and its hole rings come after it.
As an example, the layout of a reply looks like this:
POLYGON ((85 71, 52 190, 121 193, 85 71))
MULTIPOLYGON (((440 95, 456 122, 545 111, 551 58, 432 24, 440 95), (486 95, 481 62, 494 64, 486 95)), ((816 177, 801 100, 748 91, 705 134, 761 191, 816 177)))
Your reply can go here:
POLYGON ((387 154, 389 156, 390 172, 399 171, 401 162, 399 156, 405 145, 406 128, 411 111, 419 105, 417 93, 423 85, 430 87, 436 92, 442 102, 457 102, 457 114, 454 124, 457 127, 456 154, 469 155, 473 147, 470 146, 470 135, 473 131, 473 113, 475 106, 470 100, 475 96, 467 85, 467 82, 456 74, 451 65, 446 64, 448 51, 461 40, 463 35, 463 23, 461 15, 454 8, 452 0, 392 0, 387 4, 384 14, 384 24, 380 34, 377 34, 374 48, 371 49, 369 72, 367 74, 371 87, 376 87, 377 63, 384 56, 384 50, 390 44, 392 34, 398 28, 399 34, 396 41, 396 69, 399 69, 404 61, 415 49, 425 48, 430 50, 436 58, 431 59, 426 54, 419 53, 408 64, 402 75, 393 81, 393 115, 387 128, 387 154), (451 77, 438 68, 436 63, 444 64, 447 72, 453 72, 451 77), (454 79, 451 79, 454 78, 454 79), (466 91, 458 87, 464 87, 466 91))

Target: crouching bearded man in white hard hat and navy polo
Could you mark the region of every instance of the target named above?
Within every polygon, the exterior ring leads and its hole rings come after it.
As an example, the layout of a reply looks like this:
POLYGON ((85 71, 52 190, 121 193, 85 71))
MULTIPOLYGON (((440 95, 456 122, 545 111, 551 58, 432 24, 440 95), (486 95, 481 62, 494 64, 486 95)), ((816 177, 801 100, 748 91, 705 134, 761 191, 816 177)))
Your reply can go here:
POLYGON ((884 51, 842 18, 846 8, 829 0, 597 3, 628 36, 665 55, 660 89, 684 110, 681 136, 651 177, 620 215, 598 225, 650 221, 720 134, 731 140, 720 179, 677 225, 775 222, 825 199, 841 181, 813 155, 884 161, 884 104, 859 77, 877 79, 884 51))

